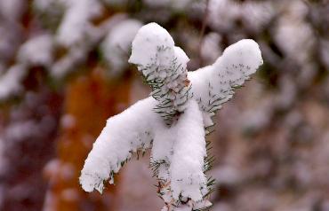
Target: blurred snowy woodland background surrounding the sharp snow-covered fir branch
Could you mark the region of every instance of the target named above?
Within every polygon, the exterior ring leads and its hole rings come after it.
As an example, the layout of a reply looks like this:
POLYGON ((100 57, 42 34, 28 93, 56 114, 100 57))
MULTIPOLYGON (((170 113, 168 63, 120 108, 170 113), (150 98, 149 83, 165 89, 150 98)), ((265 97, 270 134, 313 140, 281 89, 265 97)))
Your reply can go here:
POLYGON ((213 211, 329 210, 327 0, 1 0, 0 210, 160 210, 148 155, 105 193, 78 176, 108 117, 149 93, 127 59, 145 23, 189 71, 252 38, 264 65, 216 115, 213 211))

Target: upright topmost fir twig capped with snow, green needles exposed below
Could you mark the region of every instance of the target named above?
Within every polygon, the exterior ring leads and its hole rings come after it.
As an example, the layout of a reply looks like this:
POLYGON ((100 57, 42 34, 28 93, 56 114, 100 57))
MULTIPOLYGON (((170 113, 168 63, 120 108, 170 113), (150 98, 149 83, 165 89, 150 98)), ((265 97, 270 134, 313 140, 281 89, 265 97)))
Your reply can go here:
POLYGON ((190 98, 188 61, 185 52, 174 46, 172 36, 156 23, 141 27, 132 42, 129 62, 138 67, 151 86, 151 95, 158 101, 157 112, 169 124, 190 98))

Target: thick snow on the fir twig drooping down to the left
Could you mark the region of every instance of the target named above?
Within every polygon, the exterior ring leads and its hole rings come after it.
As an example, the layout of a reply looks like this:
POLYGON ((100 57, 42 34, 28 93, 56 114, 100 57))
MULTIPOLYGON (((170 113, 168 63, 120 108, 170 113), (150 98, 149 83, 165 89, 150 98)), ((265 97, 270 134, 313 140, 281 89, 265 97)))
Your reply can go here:
POLYGON ((80 176, 84 191, 95 188, 101 192, 103 181, 109 178, 113 183, 110 174, 117 173, 132 152, 149 148, 154 130, 164 127, 160 116, 152 111, 154 106, 156 100, 146 98, 108 119, 85 160, 80 176))

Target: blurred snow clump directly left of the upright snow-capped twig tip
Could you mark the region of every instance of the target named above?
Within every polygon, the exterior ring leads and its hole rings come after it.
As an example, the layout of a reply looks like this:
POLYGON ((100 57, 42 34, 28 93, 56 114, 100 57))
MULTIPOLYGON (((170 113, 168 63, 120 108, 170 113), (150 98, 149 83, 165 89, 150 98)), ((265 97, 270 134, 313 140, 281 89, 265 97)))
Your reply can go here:
POLYGON ((123 20, 113 27, 101 43, 101 50, 111 74, 117 75, 127 66, 126 59, 132 47, 132 39, 141 27, 139 20, 123 20))

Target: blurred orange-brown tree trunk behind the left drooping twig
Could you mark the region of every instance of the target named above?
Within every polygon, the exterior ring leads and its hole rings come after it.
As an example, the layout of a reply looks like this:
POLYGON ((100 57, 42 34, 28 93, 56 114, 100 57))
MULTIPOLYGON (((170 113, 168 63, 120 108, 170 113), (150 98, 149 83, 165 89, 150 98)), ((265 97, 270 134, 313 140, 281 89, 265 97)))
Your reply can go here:
POLYGON ((109 116, 128 105, 131 80, 107 82, 104 70, 94 67, 88 75, 70 82, 58 137, 58 159, 45 168, 50 179, 44 210, 116 210, 116 187, 87 193, 78 177, 84 160, 109 116), (121 109, 120 109, 121 107, 121 109))

